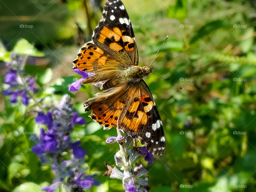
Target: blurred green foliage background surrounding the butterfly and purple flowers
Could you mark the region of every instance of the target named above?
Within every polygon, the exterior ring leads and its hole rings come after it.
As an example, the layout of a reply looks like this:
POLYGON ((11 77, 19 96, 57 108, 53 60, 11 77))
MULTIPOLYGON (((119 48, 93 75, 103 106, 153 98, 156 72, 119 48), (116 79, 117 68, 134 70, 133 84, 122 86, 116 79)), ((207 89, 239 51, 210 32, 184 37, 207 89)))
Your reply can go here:
MULTIPOLYGON (((79 78, 74 76, 72 61, 79 47, 90 40, 104 3, 1 1, 0 39, 6 48, 0 47, 0 59, 7 61, 13 49, 22 54, 30 50, 25 70, 37 77, 43 93, 37 97, 46 97, 49 102, 59 100, 74 78, 79 78)), ((148 65, 169 35, 152 67, 156 74, 184 88, 179 90, 153 74, 146 79, 167 142, 165 154, 155 156, 153 165, 148 167, 151 191, 256 191, 255 2, 123 0, 123 3, 136 26, 139 65, 148 65)), ((3 63, 1 69, 3 82, 7 71, 3 63)), ((3 84, 1 87, 4 89, 3 84)), ((81 140, 88 152, 89 171, 97 173, 101 183, 89 191, 123 191, 120 181, 103 177, 104 161, 114 165, 118 146, 106 145, 105 139, 116 135, 115 129, 103 131, 88 118, 89 112, 83 113, 82 103, 96 92, 98 88, 86 85, 77 93, 69 93, 79 115, 87 120, 86 127, 75 128, 85 130, 87 135, 73 138, 81 140)), ((47 186, 54 175, 50 167, 41 167, 37 155, 30 150, 34 143, 29 135, 19 134, 25 130, 39 132, 35 114, 21 102, 10 103, 4 96, 0 107, 0 190, 39 191, 39 185, 47 186), (35 186, 21 188, 19 185, 25 182, 35 186)))

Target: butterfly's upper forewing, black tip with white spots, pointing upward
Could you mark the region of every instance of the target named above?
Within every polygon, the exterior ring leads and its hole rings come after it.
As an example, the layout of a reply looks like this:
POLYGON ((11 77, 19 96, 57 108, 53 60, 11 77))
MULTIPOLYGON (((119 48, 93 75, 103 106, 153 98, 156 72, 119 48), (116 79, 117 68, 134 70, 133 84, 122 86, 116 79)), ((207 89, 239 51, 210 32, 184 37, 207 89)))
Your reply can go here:
POLYGON ((129 15, 120 0, 108 0, 92 40, 125 65, 138 65, 138 49, 129 15))

